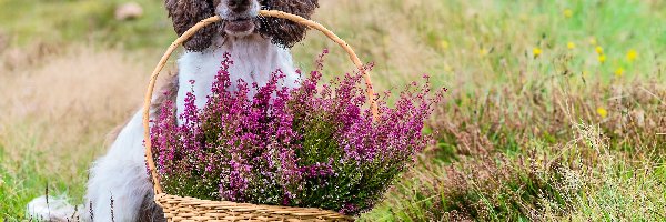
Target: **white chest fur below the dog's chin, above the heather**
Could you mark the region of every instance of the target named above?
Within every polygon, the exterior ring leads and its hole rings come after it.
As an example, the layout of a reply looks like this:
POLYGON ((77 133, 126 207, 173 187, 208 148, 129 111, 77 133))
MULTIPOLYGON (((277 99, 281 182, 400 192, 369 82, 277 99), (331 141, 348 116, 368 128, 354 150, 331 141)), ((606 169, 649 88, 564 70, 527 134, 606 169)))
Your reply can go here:
MULTIPOLYGON (((260 87, 265 85, 272 72, 282 70, 286 78, 281 84, 290 88, 299 85, 300 75, 296 74, 289 50, 274 46, 269 39, 258 34, 242 39, 228 37, 219 47, 212 46, 202 52, 185 52, 178 61, 180 85, 176 107, 179 114, 184 108, 185 95, 191 90, 194 90, 196 107, 205 105, 206 95, 211 93, 215 74, 220 70, 225 52, 231 53, 233 60, 229 73, 234 84, 242 79, 249 84, 256 82, 260 87), (192 80, 194 83, 191 83, 192 80)), ((229 90, 235 90, 235 85, 229 90)), ((253 97, 254 93, 251 91, 250 97, 253 97)))

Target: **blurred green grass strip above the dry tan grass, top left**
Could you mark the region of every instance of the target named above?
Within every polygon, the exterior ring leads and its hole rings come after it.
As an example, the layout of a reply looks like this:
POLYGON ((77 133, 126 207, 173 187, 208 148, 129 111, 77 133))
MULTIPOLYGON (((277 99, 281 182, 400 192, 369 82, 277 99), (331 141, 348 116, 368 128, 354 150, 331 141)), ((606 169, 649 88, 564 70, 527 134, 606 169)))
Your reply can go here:
POLYGON ((85 42, 128 49, 168 46, 175 34, 161 1, 135 1, 143 6, 143 17, 118 21, 114 9, 122 2, 71 0, 2 0, 0 31, 16 44, 34 41, 85 42))

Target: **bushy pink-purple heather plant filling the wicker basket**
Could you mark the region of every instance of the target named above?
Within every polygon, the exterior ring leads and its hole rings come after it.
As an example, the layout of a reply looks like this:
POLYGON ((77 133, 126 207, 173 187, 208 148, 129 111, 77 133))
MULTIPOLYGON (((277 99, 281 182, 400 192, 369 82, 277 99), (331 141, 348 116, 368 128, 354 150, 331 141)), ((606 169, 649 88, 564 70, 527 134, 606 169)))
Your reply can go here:
POLYGON ((394 108, 387 92, 373 121, 360 73, 320 84, 325 53, 297 89, 280 85, 280 70, 265 85, 231 82, 225 54, 204 108, 188 93, 175 117, 165 102, 151 129, 165 191, 350 215, 370 210, 430 143, 423 121, 441 94, 432 95, 427 78, 400 93, 394 108))

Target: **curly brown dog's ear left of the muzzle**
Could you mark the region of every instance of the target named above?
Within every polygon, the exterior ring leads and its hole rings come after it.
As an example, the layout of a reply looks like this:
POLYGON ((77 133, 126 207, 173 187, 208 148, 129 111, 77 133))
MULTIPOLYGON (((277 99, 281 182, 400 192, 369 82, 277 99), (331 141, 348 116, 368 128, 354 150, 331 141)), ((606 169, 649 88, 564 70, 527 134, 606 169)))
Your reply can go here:
MULTIPOLYGON (((183 34, 196 22, 214 16, 214 7, 211 0, 164 0, 169 17, 173 20, 173 29, 178 36, 183 34)), ((196 32, 184 43, 190 51, 202 51, 213 41, 219 26, 211 24, 196 32)))

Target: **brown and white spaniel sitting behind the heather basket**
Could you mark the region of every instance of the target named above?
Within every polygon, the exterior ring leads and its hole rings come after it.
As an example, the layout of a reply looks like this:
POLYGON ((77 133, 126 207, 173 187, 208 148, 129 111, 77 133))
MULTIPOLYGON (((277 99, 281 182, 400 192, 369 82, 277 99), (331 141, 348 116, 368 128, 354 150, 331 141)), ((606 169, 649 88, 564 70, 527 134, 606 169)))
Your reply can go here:
MULTIPOLYGON (((262 18, 259 11, 281 10, 310 18, 319 7, 317 0, 165 0, 165 6, 178 34, 214 14, 223 21, 205 27, 184 43, 186 51, 178 60, 178 74, 165 85, 178 93, 154 98, 153 113, 168 100, 175 101, 181 112, 191 89, 200 98, 196 105, 203 107, 206 101, 202 98, 211 92, 225 52, 235 61, 229 70, 232 80, 264 85, 272 72, 281 70, 286 75, 282 84, 299 85, 300 75, 289 48, 305 37, 307 28, 284 19, 262 18)), ((122 128, 109 152, 94 162, 82 205, 74 208, 63 200, 41 196, 28 204, 28 216, 47 221, 164 221, 153 202, 143 151, 139 111, 122 128)))

